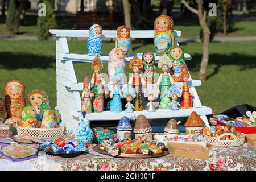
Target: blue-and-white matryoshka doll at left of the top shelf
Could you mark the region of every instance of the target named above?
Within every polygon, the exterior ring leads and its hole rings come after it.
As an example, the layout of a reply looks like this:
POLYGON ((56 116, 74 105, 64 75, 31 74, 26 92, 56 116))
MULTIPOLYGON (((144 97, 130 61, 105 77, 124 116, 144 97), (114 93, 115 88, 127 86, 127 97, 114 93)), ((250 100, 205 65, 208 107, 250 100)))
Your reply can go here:
POLYGON ((89 30, 87 51, 89 56, 100 56, 102 50, 102 28, 98 24, 93 24, 89 30))

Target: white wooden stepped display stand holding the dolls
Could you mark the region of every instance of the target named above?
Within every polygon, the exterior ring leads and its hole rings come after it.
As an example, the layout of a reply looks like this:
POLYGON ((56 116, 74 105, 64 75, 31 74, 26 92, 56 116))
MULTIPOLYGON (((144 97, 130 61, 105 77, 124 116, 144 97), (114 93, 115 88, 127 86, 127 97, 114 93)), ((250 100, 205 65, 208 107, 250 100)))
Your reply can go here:
MULTIPOLYGON (((86 54, 74 54, 69 53, 67 38, 88 38, 89 30, 49 30, 49 32, 56 36, 56 84, 57 84, 57 106, 56 109, 60 111, 63 119, 63 123, 67 126, 67 129, 76 129, 77 121, 82 117, 79 112, 81 110, 81 96, 82 83, 77 82, 76 73, 73 68, 75 63, 91 63, 94 56, 88 56, 86 54)), ((104 30, 102 31, 102 38, 116 38, 117 31, 104 30)), ((181 36, 181 31, 175 31, 175 45, 179 45, 177 38, 181 36)), ((131 38, 153 38, 154 30, 131 30, 131 38)), ((86 44, 85 44, 86 45, 86 44)), ((104 44, 103 44, 104 46, 104 44)), ((137 55, 142 56, 142 53, 131 54, 126 58, 127 63, 137 55)), ((108 63, 108 55, 100 56, 103 63, 108 63)), ((156 62, 160 59, 159 56, 155 56, 156 62)), ((191 56, 185 53, 185 60, 191 60, 191 56)), ((119 120, 122 116, 133 117, 134 115, 144 114, 148 119, 157 118, 174 118, 174 117, 188 117, 192 111, 196 111, 203 119, 205 124, 209 127, 209 122, 205 115, 212 114, 212 109, 206 106, 202 106, 199 96, 195 87, 201 85, 200 80, 192 80, 189 78, 188 85, 191 86, 191 90, 194 94, 193 108, 181 109, 179 111, 171 110, 158 110, 155 113, 148 113, 144 111, 135 111, 134 113, 111 113, 110 111, 104 111, 102 113, 87 114, 87 118, 90 121, 110 121, 119 120)), ((182 87, 183 83, 177 83, 177 86, 182 87)))

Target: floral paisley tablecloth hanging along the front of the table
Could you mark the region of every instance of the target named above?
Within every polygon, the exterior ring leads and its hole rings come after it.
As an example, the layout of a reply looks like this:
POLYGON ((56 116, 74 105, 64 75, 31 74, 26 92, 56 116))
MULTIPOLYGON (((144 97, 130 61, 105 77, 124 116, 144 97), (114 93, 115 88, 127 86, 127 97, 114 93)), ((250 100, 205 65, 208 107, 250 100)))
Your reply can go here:
POLYGON ((256 171, 256 147, 248 143, 240 147, 208 147, 209 160, 176 158, 168 154, 160 158, 127 159, 101 155, 93 150, 77 158, 60 158, 39 154, 31 162, 34 170, 253 170, 256 171), (41 155, 41 156, 40 156, 41 155))

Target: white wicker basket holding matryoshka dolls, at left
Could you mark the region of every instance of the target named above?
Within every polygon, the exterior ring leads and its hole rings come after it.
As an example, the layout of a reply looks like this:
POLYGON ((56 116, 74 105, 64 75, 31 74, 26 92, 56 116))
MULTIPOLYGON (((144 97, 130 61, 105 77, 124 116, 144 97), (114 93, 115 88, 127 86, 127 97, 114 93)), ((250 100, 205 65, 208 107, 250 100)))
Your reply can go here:
POLYGON ((17 132, 19 136, 29 136, 35 138, 59 138, 64 135, 65 125, 57 128, 34 128, 34 127, 20 127, 17 125, 17 132))

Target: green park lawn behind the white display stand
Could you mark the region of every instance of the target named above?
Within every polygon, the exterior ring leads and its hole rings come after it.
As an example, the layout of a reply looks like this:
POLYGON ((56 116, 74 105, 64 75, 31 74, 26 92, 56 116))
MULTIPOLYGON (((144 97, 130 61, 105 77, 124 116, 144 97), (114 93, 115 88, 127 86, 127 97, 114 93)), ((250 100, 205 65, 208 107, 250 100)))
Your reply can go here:
MULTIPOLYGON (((86 42, 69 41, 72 53, 85 53, 86 42)), ((208 80, 197 88, 201 102, 219 113, 232 106, 256 106, 256 42, 210 43, 208 80), (241 49, 241 48, 244 49, 241 49), (241 51, 242 50, 242 51, 241 51)), ((104 43, 103 53, 108 53, 114 43, 104 43)), ((192 55, 187 61, 193 78, 199 78, 202 44, 183 45, 192 55)), ((152 44, 133 44, 134 52, 154 51, 152 44)), ((56 71, 54 41, 1 41, 0 44, 0 97, 4 97, 7 81, 18 79, 26 85, 26 97, 32 89, 43 89, 49 95, 51 106, 56 105, 56 71)), ((76 64, 77 80, 92 75, 90 64, 76 64)), ((104 70, 106 72, 106 64, 104 70)), ((127 67, 127 72, 130 73, 127 67)), ((158 69, 158 73, 160 70, 158 69)))

